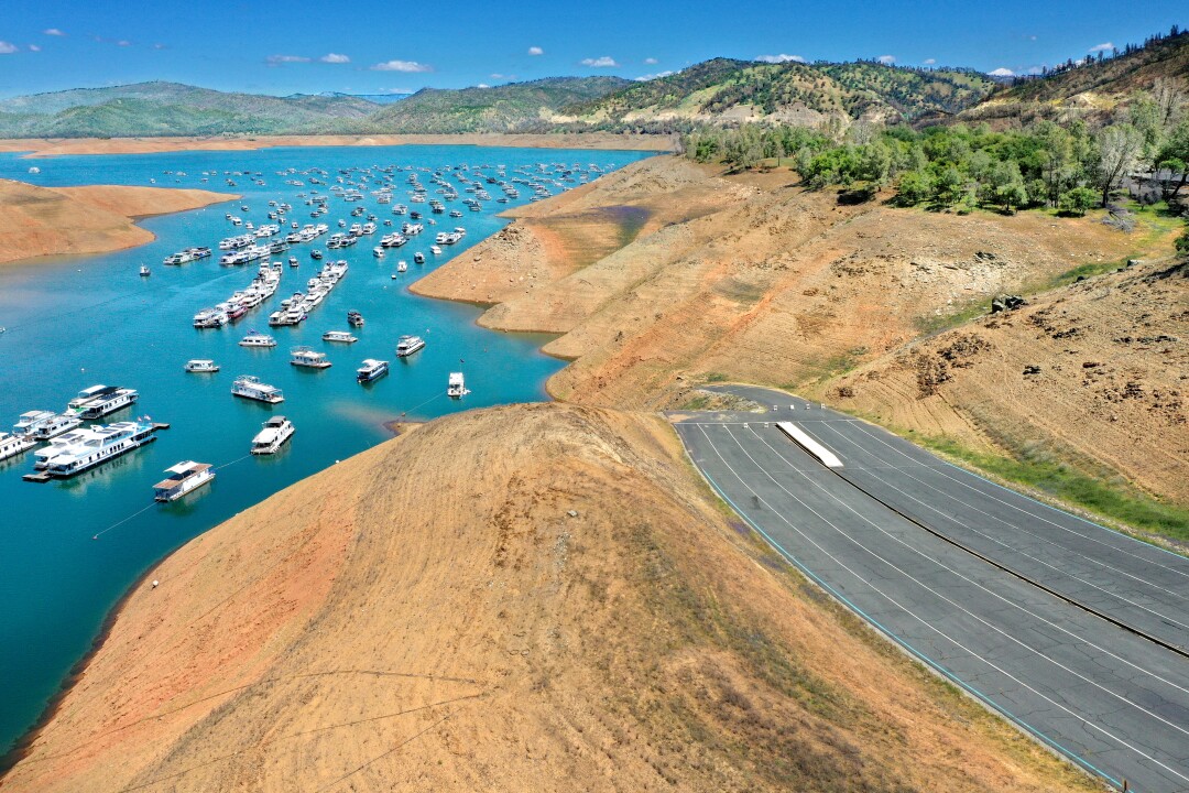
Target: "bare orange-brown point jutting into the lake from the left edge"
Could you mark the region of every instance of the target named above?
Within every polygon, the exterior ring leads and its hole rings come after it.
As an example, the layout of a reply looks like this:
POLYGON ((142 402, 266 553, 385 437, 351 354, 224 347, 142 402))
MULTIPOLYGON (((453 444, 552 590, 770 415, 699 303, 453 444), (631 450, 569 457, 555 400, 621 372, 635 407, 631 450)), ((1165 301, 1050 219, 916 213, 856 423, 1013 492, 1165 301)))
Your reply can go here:
POLYGON ((42 256, 106 253, 151 241, 139 218, 196 209, 238 195, 92 185, 43 188, 0 180, 0 265, 42 256))

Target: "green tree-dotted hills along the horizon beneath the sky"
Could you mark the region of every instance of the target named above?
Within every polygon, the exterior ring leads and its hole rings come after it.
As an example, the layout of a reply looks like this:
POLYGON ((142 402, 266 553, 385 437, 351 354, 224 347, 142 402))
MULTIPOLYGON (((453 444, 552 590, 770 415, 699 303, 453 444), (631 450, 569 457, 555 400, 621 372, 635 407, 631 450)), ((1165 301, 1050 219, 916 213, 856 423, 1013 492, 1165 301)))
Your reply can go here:
POLYGON ((171 82, 0 100, 0 137, 671 132, 744 121, 818 125, 1026 120, 1109 111, 1157 77, 1189 87, 1189 34, 1070 61, 1004 84, 969 69, 713 58, 647 81, 552 77, 415 94, 265 96, 171 82))

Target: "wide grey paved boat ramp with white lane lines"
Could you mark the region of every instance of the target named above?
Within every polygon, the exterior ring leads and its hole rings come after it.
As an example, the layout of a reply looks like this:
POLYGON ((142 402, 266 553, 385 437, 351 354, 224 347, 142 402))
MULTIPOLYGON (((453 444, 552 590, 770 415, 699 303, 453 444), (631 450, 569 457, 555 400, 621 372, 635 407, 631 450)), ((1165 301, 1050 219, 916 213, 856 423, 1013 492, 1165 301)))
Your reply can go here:
POLYGON ((1189 561, 841 414, 717 388, 780 407, 698 415, 678 421, 678 433, 715 487, 789 560, 1083 767, 1140 792, 1189 791, 1189 660, 1176 652, 1189 561), (795 420, 838 454, 843 476, 774 420, 795 420))

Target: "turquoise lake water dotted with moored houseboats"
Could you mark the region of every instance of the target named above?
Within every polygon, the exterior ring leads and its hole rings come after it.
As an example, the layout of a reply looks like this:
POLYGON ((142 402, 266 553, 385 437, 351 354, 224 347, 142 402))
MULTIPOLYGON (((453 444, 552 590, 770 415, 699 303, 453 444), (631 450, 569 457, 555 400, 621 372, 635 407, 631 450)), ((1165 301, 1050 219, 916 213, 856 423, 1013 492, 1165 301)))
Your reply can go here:
MULTIPOLYGON (((502 228, 508 221, 495 214, 527 202, 531 191, 524 185, 516 185, 521 197, 510 204, 489 201, 482 213, 473 213, 461 206, 467 194, 458 184, 461 197, 447 207, 463 209, 463 218, 436 215, 436 227, 427 225, 423 234, 377 260, 371 250, 380 234, 398 229, 408 219, 394 216, 392 206, 408 203, 427 219, 434 216, 426 204, 408 201, 405 175, 396 175, 390 206, 378 204, 367 190, 358 204, 332 199, 331 212, 314 220, 309 218, 312 207, 297 197, 310 188, 285 184, 285 180, 304 177, 278 176, 278 171, 325 169, 329 172, 327 184, 315 188, 327 194, 340 169, 467 164, 472 169, 491 165, 483 172, 495 176, 493 166, 503 164, 511 178, 517 176, 515 168, 536 163, 584 168, 596 163, 608 171, 647 156, 467 146, 282 147, 49 159, 0 155, 0 177, 45 187, 149 185, 156 180, 157 187, 206 188, 243 196, 146 220, 141 225, 157 240, 137 248, 0 268, 0 327, 5 328, 0 333, 0 429, 11 429, 27 410, 61 411, 77 391, 97 383, 140 392, 132 410, 105 422, 149 415, 171 424, 158 433, 156 442, 70 480, 23 482, 21 474, 33 470, 32 452, 0 461, 0 749, 37 719, 70 667, 90 647, 111 606, 163 555, 282 487, 384 441, 391 435, 383 422, 403 411, 410 411, 410 417, 433 418, 471 408, 543 399, 545 380, 564 365, 539 352, 543 338, 485 331, 474 325, 478 309, 417 297, 407 289, 451 254, 502 228), (39 174, 29 174, 33 165, 39 174), (166 170, 187 176, 165 175, 166 170), (202 183, 203 171, 219 176, 202 183), (265 185, 232 176, 237 185, 227 187, 224 171, 259 172, 265 185), (277 294, 238 322, 216 331, 194 329, 191 320, 199 309, 246 288, 256 273, 258 263, 218 264, 219 240, 243 232, 225 213, 257 225, 270 222, 265 216, 269 200, 292 204, 287 220, 326 222, 332 232, 340 231, 339 219, 348 224, 366 219, 350 216, 354 206, 364 206, 365 214, 376 214, 380 222, 391 219, 394 227, 380 226, 375 237, 365 237, 351 248, 327 251, 327 237, 321 237, 270 257, 287 260, 296 256, 301 266, 287 265, 277 294), (241 212, 241 204, 249 206, 249 212, 241 212), (458 225, 467 229, 465 240, 435 260, 428 251, 434 232, 458 225), (161 264, 169 253, 191 245, 215 248, 214 257, 175 268, 161 264), (320 266, 309 258, 313 247, 326 251, 323 262, 346 259, 350 272, 306 322, 269 328, 269 313, 281 298, 304 290, 306 281, 320 266), (427 254, 424 265, 413 262, 419 250, 427 254), (401 259, 408 262, 409 270, 394 281, 391 275, 401 259), (138 276, 141 263, 152 268, 151 277, 138 276), (322 342, 325 331, 347 329, 348 309, 366 317, 365 327, 354 331, 359 341, 350 346, 322 342), (278 346, 239 347, 237 342, 250 328, 271 333, 278 346), (402 360, 394 350, 397 336, 404 333, 422 335, 427 346, 402 360), (291 366, 289 348, 298 344, 328 352, 334 365, 325 371, 291 366), (182 365, 191 358, 213 358, 222 369, 216 375, 187 375, 182 365), (391 373, 367 388, 358 385, 354 371, 364 358, 391 361, 391 373), (460 360, 472 392, 454 402, 445 396, 446 380, 460 360), (282 388, 285 402, 269 407, 232 397, 231 384, 239 375, 256 375, 282 388), (291 418, 296 435, 273 458, 245 458, 252 436, 270 415, 291 418), (153 504, 152 485, 164 468, 181 460, 225 467, 210 486, 169 505, 153 504), (100 540, 93 540, 99 533, 100 540)), ((434 197, 432 174, 419 175, 434 197)), ((347 178, 358 181, 359 176, 347 178)), ((485 187, 492 199, 502 195, 496 185, 485 187)))

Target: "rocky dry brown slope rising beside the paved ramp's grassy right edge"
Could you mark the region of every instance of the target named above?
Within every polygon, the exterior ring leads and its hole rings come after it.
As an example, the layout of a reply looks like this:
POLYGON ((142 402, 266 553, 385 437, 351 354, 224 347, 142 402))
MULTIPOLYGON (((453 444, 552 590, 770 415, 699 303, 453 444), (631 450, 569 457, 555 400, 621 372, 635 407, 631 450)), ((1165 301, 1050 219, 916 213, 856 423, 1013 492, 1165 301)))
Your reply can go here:
POLYGON ((1189 503, 1189 270, 1152 262, 1071 284, 814 392, 901 429, 1105 465, 1189 503))

